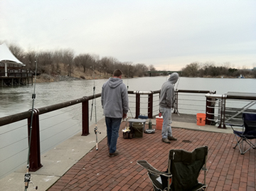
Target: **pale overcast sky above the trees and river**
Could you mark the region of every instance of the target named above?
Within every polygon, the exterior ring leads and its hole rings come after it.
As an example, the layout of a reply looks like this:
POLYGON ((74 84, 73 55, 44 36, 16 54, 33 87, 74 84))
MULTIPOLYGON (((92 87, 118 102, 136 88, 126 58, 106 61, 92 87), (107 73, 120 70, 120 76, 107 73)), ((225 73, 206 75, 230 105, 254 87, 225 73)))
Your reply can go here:
POLYGON ((255 0, 0 0, 0 42, 181 70, 256 67, 255 0))

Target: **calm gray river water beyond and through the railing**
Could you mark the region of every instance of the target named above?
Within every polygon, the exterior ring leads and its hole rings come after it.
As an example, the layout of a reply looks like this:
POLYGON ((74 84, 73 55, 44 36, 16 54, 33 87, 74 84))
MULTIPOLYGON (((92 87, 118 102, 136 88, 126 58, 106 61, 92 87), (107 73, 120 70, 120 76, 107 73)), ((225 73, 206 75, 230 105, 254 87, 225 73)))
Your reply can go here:
MULTIPOLYGON (((129 86, 129 90, 148 92, 161 89, 161 84, 166 80, 167 77, 140 77, 124 79, 123 81, 129 86)), ((95 93, 100 93, 102 84, 106 81, 107 79, 36 83, 34 108, 90 96, 93 94, 94 86, 95 93)), ((186 90, 215 90, 217 94, 227 92, 253 92, 256 94, 256 79, 181 77, 176 83, 176 87, 186 90)), ((0 118, 31 109, 33 88, 32 85, 0 87, 0 118)), ((97 99, 97 112, 100 113, 97 120, 103 117, 100 109, 100 99, 97 99)), ((80 120, 81 107, 76 105, 40 116, 41 153, 45 153, 61 141, 80 132, 80 120), (55 116, 54 120, 50 119, 52 116, 55 116), (72 128, 63 129, 63 126, 71 126, 72 128)), ((94 120, 95 118, 92 116, 90 124, 94 120)), ((26 120, 0 126, 0 178, 26 164, 27 136, 26 120)))

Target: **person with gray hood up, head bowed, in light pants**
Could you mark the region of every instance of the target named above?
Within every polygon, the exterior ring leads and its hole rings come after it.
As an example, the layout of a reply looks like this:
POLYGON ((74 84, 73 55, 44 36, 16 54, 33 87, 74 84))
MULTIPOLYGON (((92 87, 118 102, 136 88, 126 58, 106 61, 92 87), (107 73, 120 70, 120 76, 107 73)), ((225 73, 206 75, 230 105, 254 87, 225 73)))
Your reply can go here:
POLYGON ((171 143, 170 141, 176 141, 177 138, 172 136, 171 132, 171 108, 174 107, 174 84, 178 81, 178 73, 174 72, 170 75, 169 79, 164 82, 161 87, 161 93, 159 98, 159 110, 163 115, 162 126, 162 141, 164 143, 171 143))

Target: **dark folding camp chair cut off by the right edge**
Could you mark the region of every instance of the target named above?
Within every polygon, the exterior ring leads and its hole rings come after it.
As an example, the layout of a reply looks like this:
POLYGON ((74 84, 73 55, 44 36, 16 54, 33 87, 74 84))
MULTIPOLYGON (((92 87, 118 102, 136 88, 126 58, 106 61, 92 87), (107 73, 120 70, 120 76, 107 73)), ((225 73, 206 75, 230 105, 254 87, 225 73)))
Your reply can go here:
POLYGON ((233 148, 236 148, 236 146, 238 146, 241 155, 245 154, 251 148, 256 148, 256 143, 254 144, 252 143, 252 141, 250 141, 252 139, 256 139, 256 114, 242 113, 242 121, 242 125, 228 124, 233 129, 235 139, 237 140, 237 143, 233 148), (236 131, 234 129, 234 126, 242 126, 242 131, 236 131), (249 145, 249 148, 247 148, 246 151, 245 148, 243 148, 244 142, 249 145))

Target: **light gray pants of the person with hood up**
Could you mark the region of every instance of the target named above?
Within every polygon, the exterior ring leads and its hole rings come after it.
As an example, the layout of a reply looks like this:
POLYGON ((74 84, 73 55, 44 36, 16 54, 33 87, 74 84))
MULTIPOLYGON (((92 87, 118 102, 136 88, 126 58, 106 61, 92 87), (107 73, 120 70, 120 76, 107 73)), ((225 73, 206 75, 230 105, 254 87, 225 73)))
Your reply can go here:
POLYGON ((162 138, 172 136, 171 133, 171 108, 160 107, 160 112, 163 115, 162 138))

